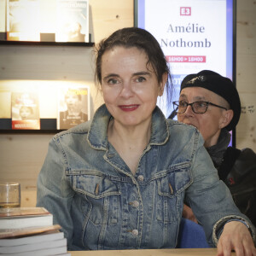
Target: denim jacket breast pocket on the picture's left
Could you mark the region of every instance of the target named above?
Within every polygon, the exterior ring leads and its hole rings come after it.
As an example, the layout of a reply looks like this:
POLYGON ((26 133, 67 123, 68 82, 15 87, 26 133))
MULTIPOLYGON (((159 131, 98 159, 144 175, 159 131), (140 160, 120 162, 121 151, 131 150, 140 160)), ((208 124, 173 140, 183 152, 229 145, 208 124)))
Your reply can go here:
POLYGON ((81 198, 84 218, 93 224, 116 224, 119 218, 120 183, 104 174, 73 176, 73 189, 81 198))

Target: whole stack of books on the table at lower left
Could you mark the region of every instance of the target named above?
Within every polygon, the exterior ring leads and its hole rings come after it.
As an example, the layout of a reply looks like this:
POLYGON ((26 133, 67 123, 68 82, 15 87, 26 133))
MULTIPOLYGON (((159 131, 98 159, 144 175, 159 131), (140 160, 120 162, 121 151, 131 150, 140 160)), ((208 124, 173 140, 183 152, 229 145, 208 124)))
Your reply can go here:
POLYGON ((44 207, 0 209, 0 256, 71 255, 44 207))

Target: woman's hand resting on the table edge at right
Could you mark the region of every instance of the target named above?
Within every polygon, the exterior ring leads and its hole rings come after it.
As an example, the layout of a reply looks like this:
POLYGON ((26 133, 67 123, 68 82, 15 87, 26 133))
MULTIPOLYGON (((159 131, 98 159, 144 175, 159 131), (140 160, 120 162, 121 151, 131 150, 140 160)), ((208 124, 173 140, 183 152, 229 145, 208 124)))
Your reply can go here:
POLYGON ((250 231, 239 221, 231 221, 224 225, 217 249, 218 256, 230 256, 231 250, 236 251, 236 256, 256 256, 250 231))

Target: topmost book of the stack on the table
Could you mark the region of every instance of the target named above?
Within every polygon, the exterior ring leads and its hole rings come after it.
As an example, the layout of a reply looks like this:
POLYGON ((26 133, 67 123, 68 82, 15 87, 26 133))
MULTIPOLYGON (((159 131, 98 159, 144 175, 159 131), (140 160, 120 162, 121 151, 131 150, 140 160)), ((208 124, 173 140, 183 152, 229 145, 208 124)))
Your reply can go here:
POLYGON ((53 224, 53 215, 41 207, 0 209, 0 236, 3 230, 45 227, 53 224))

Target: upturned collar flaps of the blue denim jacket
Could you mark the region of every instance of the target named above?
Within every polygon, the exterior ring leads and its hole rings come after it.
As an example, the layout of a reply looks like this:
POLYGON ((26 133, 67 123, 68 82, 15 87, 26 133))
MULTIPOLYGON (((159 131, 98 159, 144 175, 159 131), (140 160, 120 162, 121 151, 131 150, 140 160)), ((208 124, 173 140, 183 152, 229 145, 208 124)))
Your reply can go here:
MULTIPOLYGON (((91 147, 106 150, 108 146, 108 123, 110 119, 113 119, 113 117, 108 112, 105 104, 96 110, 87 137, 91 147)), ((160 108, 156 106, 152 113, 152 131, 149 144, 162 145, 167 142, 168 138, 169 130, 166 117, 160 108)))

